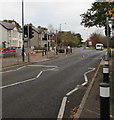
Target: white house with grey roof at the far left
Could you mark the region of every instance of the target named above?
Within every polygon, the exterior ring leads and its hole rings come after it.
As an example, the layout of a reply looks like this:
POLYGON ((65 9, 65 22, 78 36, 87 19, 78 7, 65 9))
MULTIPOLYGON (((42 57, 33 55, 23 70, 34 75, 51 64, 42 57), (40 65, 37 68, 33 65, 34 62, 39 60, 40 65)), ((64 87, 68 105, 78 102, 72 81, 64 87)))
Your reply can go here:
POLYGON ((0 45, 3 47, 22 47, 22 31, 16 27, 15 22, 8 23, 0 21, 0 45))

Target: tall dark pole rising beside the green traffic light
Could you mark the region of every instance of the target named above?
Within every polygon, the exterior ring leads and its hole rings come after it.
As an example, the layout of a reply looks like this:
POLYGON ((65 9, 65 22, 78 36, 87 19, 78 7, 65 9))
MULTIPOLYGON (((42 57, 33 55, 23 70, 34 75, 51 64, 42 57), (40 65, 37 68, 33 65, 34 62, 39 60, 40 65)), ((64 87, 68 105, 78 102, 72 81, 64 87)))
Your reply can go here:
POLYGON ((25 57, 24 57, 24 2, 22 0, 22 40, 23 40, 23 48, 22 48, 22 60, 23 62, 25 61, 25 57))

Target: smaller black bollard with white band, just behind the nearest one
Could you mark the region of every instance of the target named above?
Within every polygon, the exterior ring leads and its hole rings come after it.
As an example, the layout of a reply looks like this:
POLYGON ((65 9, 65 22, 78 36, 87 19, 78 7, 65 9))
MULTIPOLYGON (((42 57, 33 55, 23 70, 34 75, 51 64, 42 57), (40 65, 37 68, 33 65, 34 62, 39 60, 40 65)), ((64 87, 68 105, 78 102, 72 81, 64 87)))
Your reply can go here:
POLYGON ((109 66, 103 66, 103 82, 109 83, 109 66))

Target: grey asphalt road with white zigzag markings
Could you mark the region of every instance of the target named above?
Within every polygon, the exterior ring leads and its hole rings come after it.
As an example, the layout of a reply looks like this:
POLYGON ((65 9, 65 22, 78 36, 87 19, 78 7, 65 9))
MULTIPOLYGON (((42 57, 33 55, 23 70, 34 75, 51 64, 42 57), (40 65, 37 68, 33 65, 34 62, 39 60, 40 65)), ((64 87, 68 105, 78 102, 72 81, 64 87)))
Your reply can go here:
MULTIPOLYGON (((96 68, 104 53, 74 49, 72 55, 4 72, 0 88, 3 118, 57 118, 63 98, 85 82, 84 73, 96 68)), ((84 93, 85 89, 75 90, 67 96, 70 108, 64 116, 69 116, 84 93)))

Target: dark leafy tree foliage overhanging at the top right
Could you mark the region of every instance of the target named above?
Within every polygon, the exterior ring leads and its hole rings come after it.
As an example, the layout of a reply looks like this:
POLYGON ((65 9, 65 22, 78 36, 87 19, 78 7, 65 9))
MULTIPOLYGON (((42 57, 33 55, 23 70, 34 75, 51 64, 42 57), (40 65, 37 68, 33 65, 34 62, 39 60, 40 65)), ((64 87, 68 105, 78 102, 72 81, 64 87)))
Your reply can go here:
POLYGON ((109 8, 113 8, 113 5, 114 2, 94 2, 91 9, 88 9, 86 13, 80 15, 82 17, 81 25, 85 27, 105 26, 106 13, 109 8))

